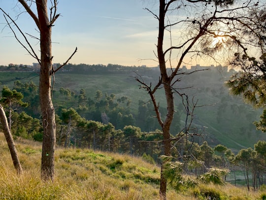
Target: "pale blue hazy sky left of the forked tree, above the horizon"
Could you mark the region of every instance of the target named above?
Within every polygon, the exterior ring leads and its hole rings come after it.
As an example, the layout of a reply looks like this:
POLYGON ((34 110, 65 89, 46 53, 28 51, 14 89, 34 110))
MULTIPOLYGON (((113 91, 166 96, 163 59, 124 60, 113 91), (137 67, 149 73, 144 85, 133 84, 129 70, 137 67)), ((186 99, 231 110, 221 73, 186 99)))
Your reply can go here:
MULTIPOLYGON (((157 66, 155 61, 145 60, 155 58, 157 42, 157 20, 143 9, 156 9, 149 2, 154 1, 59 0, 62 16, 52 30, 54 63, 65 62, 77 46, 70 63, 157 66)), ((0 7, 14 18, 24 11, 17 0, 0 0, 0 7)), ((16 22, 24 33, 38 37, 28 13, 22 13, 16 22)), ((2 14, 0 30, 0 65, 36 62, 15 40, 2 14)), ((31 39, 31 43, 38 51, 38 41, 31 39)))

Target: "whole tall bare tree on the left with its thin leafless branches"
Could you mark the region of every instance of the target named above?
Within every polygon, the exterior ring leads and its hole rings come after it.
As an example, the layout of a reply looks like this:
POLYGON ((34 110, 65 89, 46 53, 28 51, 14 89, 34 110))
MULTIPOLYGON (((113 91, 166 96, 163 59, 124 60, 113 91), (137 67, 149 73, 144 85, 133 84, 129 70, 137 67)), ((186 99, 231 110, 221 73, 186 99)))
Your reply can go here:
MULTIPOLYGON (((37 62, 40 64, 40 74, 39 74, 39 100, 41 108, 41 117, 43 125, 43 143, 42 143, 42 157, 41 157, 41 177, 43 180, 54 180, 55 175, 55 144, 56 144, 56 123, 55 123, 55 109, 52 103, 52 77, 54 77, 55 72, 62 68, 69 59, 77 51, 77 48, 73 54, 67 59, 67 61, 54 70, 52 66, 52 27, 55 21, 58 19, 60 14, 57 13, 57 0, 50 1, 50 8, 47 7, 47 0, 18 0, 18 2, 24 7, 28 14, 32 17, 36 24, 37 30, 39 32, 39 38, 34 37, 39 40, 40 43, 40 58, 34 51, 32 45, 27 39, 26 35, 21 31, 16 22, 1 8, 8 27, 12 30, 15 38, 19 43, 32 55, 37 62), (31 6, 36 5, 37 13, 33 12, 31 6), (48 13, 50 11, 50 13, 48 13), (8 18, 8 19, 7 19, 8 18), (8 20, 11 20, 9 22, 8 20), (16 36, 16 32, 13 30, 13 24, 19 33, 25 39, 27 47, 21 40, 16 36)), ((32 36, 31 36, 32 37, 32 36)))

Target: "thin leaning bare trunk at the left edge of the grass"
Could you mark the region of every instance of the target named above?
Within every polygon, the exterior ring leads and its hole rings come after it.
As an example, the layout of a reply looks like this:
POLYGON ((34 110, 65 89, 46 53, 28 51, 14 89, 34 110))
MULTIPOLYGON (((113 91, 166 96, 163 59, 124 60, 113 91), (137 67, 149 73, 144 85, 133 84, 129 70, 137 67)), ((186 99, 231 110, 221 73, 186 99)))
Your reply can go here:
POLYGON ((17 150, 15 147, 15 143, 13 140, 13 137, 11 135, 10 129, 8 127, 8 122, 5 116, 5 112, 3 110, 3 107, 0 105, 0 122, 2 124, 2 129, 4 132, 4 136, 13 160, 13 164, 15 169, 17 170, 17 174, 21 174, 22 173, 22 167, 18 158, 18 154, 17 154, 17 150))

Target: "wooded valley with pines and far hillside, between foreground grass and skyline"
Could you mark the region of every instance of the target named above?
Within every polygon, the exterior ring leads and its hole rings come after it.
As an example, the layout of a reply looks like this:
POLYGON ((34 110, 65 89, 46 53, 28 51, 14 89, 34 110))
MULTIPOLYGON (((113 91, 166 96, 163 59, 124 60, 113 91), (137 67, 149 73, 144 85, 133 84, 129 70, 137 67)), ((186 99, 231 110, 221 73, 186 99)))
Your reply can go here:
MULTIPOLYGON (((126 153, 159 164, 162 131, 154 118, 151 102, 145 99, 145 94, 139 93, 139 86, 133 79, 137 72, 144 79, 155 81, 158 71, 111 64, 100 65, 99 69, 97 66, 68 64, 68 70, 60 72, 53 88, 57 146, 126 153), (94 73, 84 75, 87 72, 94 73)), ((13 137, 42 141, 36 72, 28 72, 27 68, 25 72, 21 72, 22 69, 16 72, 8 66, 3 71, 0 73, 1 104, 13 137)), ((260 120, 262 110, 254 110, 239 97, 230 95, 224 82, 235 73, 217 67, 180 77, 184 92, 199 99, 200 106, 191 110, 192 129, 198 135, 187 139, 181 133, 187 116, 181 99, 176 98, 176 107, 183 112, 174 116, 171 126, 171 134, 179 142, 172 155, 178 157, 181 153, 195 157, 180 160, 185 163, 183 170, 188 174, 206 172, 199 164, 202 162, 205 167, 230 169, 231 175, 225 176, 225 180, 233 184, 246 183, 248 188, 255 189, 266 183, 263 170, 266 135, 253 124, 260 120), (216 130, 224 140, 220 140, 216 130), (233 176, 239 171, 244 173, 242 178, 233 176)), ((161 106, 165 106, 164 102, 161 106)))

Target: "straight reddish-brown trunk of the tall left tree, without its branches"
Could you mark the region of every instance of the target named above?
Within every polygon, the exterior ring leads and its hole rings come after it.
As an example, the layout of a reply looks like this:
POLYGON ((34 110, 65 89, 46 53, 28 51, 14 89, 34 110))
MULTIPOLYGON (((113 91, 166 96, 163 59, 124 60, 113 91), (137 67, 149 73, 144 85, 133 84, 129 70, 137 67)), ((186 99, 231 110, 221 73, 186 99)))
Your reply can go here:
POLYGON ((36 0, 40 31, 40 77, 39 98, 43 125, 41 177, 54 180, 54 153, 56 144, 55 109, 51 96, 52 71, 52 26, 47 13, 47 0, 36 0))

